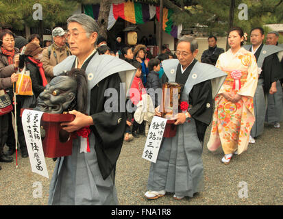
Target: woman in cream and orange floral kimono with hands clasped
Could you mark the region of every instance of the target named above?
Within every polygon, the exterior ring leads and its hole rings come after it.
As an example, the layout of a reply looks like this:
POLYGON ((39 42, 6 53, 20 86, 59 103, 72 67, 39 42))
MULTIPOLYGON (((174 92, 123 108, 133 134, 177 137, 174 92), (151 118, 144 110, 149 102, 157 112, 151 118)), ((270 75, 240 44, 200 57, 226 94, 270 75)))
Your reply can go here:
POLYGON ((254 125, 253 97, 258 82, 256 57, 243 47, 245 40, 240 27, 231 29, 228 36, 230 49, 222 53, 216 67, 227 73, 215 97, 208 149, 215 151, 222 146, 223 164, 229 164, 233 154, 247 150, 249 134, 254 125))

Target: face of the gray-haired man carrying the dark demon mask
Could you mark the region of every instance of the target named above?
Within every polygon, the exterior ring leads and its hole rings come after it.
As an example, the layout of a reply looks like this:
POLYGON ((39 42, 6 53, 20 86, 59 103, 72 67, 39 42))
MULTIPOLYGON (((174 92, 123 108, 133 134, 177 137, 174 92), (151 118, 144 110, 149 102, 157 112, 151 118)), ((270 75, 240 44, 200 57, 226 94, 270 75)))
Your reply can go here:
POLYGON ((95 49, 97 33, 91 33, 88 38, 86 36, 86 30, 77 22, 69 23, 67 36, 73 55, 84 57, 84 55, 88 55, 95 49))

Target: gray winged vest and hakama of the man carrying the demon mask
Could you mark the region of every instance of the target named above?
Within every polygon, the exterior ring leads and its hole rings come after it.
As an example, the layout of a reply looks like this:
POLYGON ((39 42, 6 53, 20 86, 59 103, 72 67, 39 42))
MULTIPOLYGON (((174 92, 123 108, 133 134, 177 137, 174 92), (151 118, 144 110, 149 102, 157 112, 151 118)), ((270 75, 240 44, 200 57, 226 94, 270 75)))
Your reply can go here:
MULTIPOLYGON (((53 69, 54 75, 59 75, 64 70, 71 70, 75 58, 75 55, 71 55, 55 66, 53 69)), ((126 88, 129 88, 135 71, 134 66, 116 57, 94 55, 86 66, 88 76, 86 112, 88 114, 90 112, 90 92, 99 81, 118 72, 121 79, 123 79, 122 81, 125 81, 126 88)), ((103 84, 100 86, 103 87, 103 84)), ((89 153, 80 153, 81 138, 73 140, 72 155, 58 158, 50 183, 48 204, 118 205, 114 185, 114 170, 106 179, 103 179, 95 151, 94 132, 91 131, 89 135, 89 153)), ((97 144, 99 143, 97 142, 97 144)))

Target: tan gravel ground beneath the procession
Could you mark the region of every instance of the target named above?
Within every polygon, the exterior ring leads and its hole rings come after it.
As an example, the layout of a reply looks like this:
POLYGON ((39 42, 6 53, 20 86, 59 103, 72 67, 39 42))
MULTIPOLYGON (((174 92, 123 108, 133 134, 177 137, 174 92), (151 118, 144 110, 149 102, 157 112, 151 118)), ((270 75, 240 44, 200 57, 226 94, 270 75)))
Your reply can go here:
MULTIPOLYGON (((120 205, 283 205, 283 123, 280 129, 266 125, 264 134, 249 144, 249 149, 232 157, 229 165, 221 164, 223 151, 208 151, 204 143, 204 191, 194 198, 175 201, 173 194, 148 201, 147 188, 150 163, 143 159, 145 137, 125 142, 116 167, 116 190, 120 205), (241 185, 240 182, 245 182, 241 185), (239 185, 240 183, 240 185, 239 185), (247 188, 247 197, 239 193, 247 188), (240 192, 239 192, 240 191, 240 192)), ((7 148, 5 147, 5 150, 7 148)), ((0 205, 47 205, 49 182, 55 162, 46 158, 49 177, 32 172, 29 159, 19 155, 13 163, 0 163, 0 205), (42 197, 37 190, 42 186, 42 197)))

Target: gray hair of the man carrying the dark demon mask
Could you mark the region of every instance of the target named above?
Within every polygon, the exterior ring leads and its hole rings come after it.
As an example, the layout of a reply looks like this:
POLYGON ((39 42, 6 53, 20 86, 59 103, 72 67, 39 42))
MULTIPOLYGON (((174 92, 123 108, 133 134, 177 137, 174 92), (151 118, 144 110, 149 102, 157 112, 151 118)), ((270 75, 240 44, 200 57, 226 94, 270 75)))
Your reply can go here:
POLYGON ((82 27, 86 31, 86 36, 88 38, 90 37, 90 34, 93 32, 97 32, 98 34, 97 22, 95 21, 95 19, 93 19, 92 17, 86 14, 73 14, 68 18, 67 25, 69 25, 69 23, 71 22, 77 22, 80 25, 82 25, 82 27))

